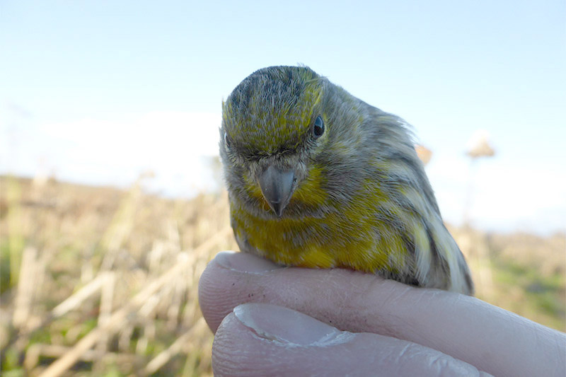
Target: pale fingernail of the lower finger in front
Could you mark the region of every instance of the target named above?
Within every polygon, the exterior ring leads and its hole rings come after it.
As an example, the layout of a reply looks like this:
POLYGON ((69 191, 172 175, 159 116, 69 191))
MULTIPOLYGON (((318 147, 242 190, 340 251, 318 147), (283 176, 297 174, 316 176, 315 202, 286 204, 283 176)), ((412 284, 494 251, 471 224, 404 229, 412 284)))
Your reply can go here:
POLYGON ((353 335, 298 311, 270 303, 244 303, 236 306, 233 313, 258 336, 285 344, 328 346, 345 342, 353 335))

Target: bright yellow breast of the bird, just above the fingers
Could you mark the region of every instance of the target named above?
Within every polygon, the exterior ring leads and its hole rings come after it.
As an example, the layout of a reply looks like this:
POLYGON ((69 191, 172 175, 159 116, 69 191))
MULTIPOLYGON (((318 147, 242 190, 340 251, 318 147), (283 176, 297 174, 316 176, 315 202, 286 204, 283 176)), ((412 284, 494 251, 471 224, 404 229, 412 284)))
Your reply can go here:
POLYGON ((364 272, 403 265, 407 253, 403 237, 376 216, 361 214, 355 208, 333 209, 322 216, 266 219, 231 205, 233 230, 242 251, 281 265, 364 272))

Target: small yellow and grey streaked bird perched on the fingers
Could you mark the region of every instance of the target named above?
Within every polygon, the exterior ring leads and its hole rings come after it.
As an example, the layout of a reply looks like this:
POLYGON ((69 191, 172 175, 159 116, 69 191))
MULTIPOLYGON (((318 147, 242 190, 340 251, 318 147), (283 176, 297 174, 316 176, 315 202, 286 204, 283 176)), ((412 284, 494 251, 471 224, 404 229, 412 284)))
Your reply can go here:
POLYGON ((269 66, 222 102, 219 131, 242 252, 473 295, 402 118, 308 66, 269 66))

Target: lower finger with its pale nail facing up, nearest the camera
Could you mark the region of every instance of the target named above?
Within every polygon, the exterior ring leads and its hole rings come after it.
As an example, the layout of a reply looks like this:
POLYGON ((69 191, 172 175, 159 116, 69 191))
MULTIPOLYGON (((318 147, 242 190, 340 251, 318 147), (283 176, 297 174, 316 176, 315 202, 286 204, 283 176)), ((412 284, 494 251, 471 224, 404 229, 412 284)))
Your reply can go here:
POLYGON ((344 332, 265 303, 234 308, 212 347, 215 376, 487 376, 420 344, 344 332))

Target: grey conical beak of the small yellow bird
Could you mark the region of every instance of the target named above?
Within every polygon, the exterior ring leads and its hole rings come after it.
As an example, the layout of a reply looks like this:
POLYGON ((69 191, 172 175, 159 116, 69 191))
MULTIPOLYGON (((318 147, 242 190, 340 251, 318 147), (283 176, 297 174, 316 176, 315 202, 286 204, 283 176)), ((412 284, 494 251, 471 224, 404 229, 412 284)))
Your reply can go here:
POLYGON ((281 217, 283 210, 289 204, 294 191, 295 171, 279 170, 273 165, 268 166, 260 174, 258 182, 261 192, 271 209, 281 217))

